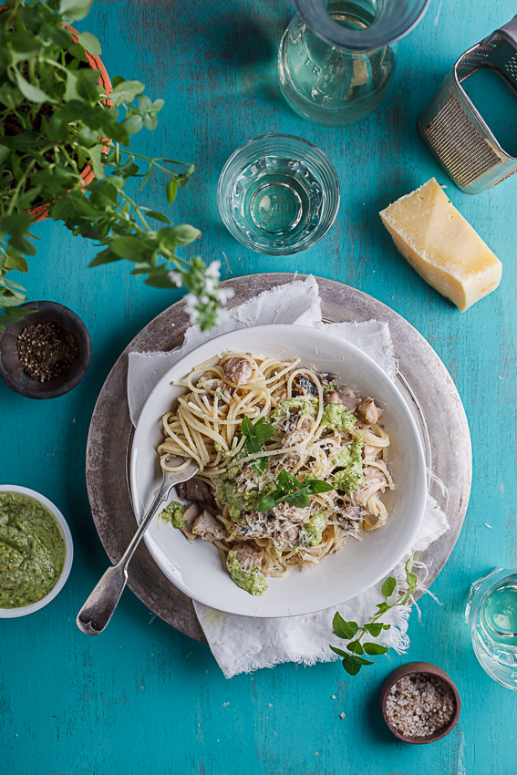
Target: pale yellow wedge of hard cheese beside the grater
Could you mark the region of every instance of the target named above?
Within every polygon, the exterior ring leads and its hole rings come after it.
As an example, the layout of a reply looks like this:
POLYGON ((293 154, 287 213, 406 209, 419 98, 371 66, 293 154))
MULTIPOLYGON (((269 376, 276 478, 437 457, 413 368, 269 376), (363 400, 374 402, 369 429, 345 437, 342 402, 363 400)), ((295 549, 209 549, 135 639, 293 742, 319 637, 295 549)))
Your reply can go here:
POLYGON ((399 253, 461 312, 500 284, 501 261, 435 178, 390 204, 380 217, 399 253))

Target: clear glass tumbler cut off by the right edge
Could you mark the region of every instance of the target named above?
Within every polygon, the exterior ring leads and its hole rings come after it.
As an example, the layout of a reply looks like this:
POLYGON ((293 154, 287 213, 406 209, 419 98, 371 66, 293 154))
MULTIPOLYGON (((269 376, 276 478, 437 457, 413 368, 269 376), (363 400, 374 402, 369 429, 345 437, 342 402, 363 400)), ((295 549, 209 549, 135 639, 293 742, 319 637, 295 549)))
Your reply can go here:
POLYGON ((495 568, 474 582, 465 618, 483 670, 517 691, 517 571, 495 568))

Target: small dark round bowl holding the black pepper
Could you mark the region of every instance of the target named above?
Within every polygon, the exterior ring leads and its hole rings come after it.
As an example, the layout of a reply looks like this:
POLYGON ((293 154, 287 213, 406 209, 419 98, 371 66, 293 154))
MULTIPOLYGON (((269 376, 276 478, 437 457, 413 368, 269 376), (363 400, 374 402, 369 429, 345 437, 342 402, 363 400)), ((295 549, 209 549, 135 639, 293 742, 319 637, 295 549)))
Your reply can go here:
POLYGON ((17 323, 5 326, 5 331, 0 334, 0 377, 5 385, 11 387, 16 393, 26 398, 57 398, 64 396, 74 387, 88 371, 91 360, 91 342, 86 325, 80 317, 57 302, 28 302, 16 307, 21 309, 36 309, 37 312, 26 315, 17 323), (60 325, 68 334, 76 337, 79 346, 79 356, 76 363, 56 379, 48 382, 36 382, 28 377, 18 355, 17 338, 27 325, 53 322, 60 325))

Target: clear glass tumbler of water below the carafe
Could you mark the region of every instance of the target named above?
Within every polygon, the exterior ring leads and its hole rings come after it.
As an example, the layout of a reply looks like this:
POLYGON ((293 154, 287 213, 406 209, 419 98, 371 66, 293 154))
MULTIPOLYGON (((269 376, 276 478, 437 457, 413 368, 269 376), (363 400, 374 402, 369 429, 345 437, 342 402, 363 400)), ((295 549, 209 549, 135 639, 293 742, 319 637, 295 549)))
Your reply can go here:
POLYGON ((257 253, 290 255, 328 232, 339 181, 325 153, 294 135, 271 134, 237 149, 217 186, 222 222, 257 253))

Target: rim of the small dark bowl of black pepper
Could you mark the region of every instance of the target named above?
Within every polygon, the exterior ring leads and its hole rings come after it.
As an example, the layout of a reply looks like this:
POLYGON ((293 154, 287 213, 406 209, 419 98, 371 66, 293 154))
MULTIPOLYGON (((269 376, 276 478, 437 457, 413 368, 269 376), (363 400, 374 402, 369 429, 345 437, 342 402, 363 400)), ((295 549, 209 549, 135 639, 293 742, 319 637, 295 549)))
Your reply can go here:
MULTIPOLYGON (((20 321, 16 321, 15 323, 6 325, 5 330, 0 333, 0 377, 2 377, 7 387, 10 387, 11 390, 14 390, 15 393, 18 393, 20 396, 24 396, 24 398, 59 398, 60 396, 67 395, 70 390, 73 390, 74 387, 77 387, 79 382, 81 382, 81 380, 86 377, 88 367, 91 362, 91 338, 89 336, 86 324, 83 322, 83 320, 81 320, 79 315, 69 307, 59 304, 59 302, 47 301, 47 299, 26 302, 26 304, 19 305, 16 307, 16 309, 35 309, 37 312, 45 312, 46 310, 50 310, 57 316, 57 318, 67 320, 69 323, 71 323, 77 330, 77 336, 79 339, 78 344, 81 347, 81 354, 78 360, 78 370, 74 377, 64 382, 60 387, 51 387, 51 380, 47 383, 43 383, 45 387, 39 390, 31 387, 30 382, 27 382, 24 385, 20 385, 16 379, 12 377, 11 371, 5 368, 2 358, 2 342, 5 335, 9 333, 11 326, 20 323, 20 321)), ((26 325, 31 325, 30 317, 31 315, 26 317, 26 325)))

